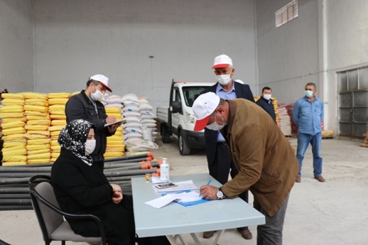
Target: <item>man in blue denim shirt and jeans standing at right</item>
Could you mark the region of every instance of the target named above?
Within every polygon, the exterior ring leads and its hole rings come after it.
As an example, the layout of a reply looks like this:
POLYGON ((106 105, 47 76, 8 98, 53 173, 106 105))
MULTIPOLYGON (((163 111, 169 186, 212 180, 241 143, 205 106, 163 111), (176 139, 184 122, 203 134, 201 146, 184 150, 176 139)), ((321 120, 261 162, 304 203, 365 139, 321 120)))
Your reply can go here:
POLYGON ((324 182, 322 177, 321 141, 323 121, 323 101, 315 96, 316 86, 313 82, 305 85, 304 97, 296 100, 292 120, 298 126, 298 147, 296 158, 299 161, 299 173, 296 182, 301 181, 302 162, 309 143, 313 152, 313 173, 315 179, 324 182))

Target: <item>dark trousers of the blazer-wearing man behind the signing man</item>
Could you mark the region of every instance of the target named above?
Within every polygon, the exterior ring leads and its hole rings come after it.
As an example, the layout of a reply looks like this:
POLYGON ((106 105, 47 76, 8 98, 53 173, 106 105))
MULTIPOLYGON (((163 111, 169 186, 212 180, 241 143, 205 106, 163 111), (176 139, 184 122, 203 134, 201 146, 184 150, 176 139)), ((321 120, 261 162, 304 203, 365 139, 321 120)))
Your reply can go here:
MULTIPOLYGON (((225 184, 229 180, 229 172, 231 178, 234 178, 238 171, 237 166, 230 154, 229 147, 223 143, 217 143, 216 156, 214 162, 208 166, 210 175, 221 184, 225 184)), ((242 200, 248 202, 248 190, 238 195, 242 200)), ((238 230, 244 230, 248 227, 239 227, 238 230)))

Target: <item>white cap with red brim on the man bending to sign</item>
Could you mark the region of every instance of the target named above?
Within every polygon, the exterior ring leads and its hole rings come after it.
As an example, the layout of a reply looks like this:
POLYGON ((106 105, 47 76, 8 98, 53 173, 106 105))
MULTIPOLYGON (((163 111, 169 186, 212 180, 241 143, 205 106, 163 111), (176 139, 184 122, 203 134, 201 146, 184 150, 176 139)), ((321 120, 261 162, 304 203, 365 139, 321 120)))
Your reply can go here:
POLYGON ((201 131, 206 127, 210 115, 217 108, 219 102, 220 97, 212 92, 200 95, 194 100, 192 109, 197 118, 194 125, 194 131, 201 131))

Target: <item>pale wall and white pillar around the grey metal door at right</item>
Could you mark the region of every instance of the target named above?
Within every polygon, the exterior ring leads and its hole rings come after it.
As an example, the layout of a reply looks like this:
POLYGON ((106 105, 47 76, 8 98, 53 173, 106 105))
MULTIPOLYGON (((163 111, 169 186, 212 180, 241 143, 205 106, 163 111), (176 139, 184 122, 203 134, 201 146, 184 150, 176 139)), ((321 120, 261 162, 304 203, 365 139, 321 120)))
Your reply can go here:
MULTIPOLYGON (((326 0, 327 78, 331 127, 338 132, 336 72, 368 65, 368 1, 326 0)), ((367 122, 368 123, 368 122, 367 122)))

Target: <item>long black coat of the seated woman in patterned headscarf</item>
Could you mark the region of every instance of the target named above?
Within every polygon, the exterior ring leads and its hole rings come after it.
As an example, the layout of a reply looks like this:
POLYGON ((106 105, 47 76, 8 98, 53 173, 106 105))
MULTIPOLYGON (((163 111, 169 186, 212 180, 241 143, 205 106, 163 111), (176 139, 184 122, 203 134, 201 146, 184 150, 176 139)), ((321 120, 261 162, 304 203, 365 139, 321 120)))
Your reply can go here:
MULTIPOLYGON (((61 148, 51 170, 51 184, 61 210, 73 214, 92 214, 101 219, 105 235, 113 244, 133 245, 135 228, 131 196, 119 204, 112 202, 112 187, 101 169, 87 165, 76 155, 61 148)), ((100 234, 95 221, 67 219, 76 234, 100 234)))

